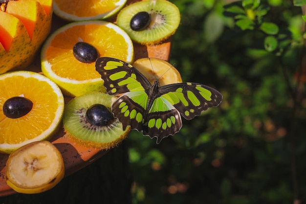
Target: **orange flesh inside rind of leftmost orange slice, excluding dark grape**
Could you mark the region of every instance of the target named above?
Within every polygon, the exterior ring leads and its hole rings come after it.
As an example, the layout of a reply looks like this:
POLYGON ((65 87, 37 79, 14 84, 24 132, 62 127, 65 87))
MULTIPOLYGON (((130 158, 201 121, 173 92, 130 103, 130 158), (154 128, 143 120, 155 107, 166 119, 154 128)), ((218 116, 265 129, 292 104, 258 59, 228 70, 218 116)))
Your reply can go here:
POLYGON ((47 82, 14 76, 1 80, 0 87, 0 110, 13 96, 23 94, 33 102, 32 110, 20 118, 8 118, 0 112, 0 143, 17 144, 32 139, 50 126, 58 108, 58 96, 47 82))

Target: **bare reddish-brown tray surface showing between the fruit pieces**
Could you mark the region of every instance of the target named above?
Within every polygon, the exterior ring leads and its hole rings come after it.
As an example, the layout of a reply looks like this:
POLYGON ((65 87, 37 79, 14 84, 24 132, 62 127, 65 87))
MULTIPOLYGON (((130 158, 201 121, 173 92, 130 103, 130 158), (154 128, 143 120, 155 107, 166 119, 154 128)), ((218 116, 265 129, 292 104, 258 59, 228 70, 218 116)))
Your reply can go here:
MULTIPOLYGON (((138 0, 128 0, 127 5, 133 1, 138 0)), ((66 22, 63 22, 63 20, 53 15, 51 32, 63 26, 64 24, 66 24, 66 22)), ((144 57, 156 57, 168 61, 170 57, 170 48, 170 39, 163 42, 162 44, 154 46, 134 44, 134 58, 137 60, 144 57)), ((37 60, 27 70, 41 72, 39 55, 37 60)), ((70 99, 71 98, 69 97, 65 97, 65 102, 68 102, 70 99)), ((68 176, 84 168, 92 161, 102 157, 107 153, 107 151, 88 149, 87 147, 76 144, 65 135, 63 129, 59 130, 56 136, 52 138, 51 142, 60 150, 63 155, 66 170, 65 176, 68 176)), ((0 196, 7 196, 16 193, 6 184, 5 181, 5 165, 7 159, 8 155, 0 154, 0 196)))

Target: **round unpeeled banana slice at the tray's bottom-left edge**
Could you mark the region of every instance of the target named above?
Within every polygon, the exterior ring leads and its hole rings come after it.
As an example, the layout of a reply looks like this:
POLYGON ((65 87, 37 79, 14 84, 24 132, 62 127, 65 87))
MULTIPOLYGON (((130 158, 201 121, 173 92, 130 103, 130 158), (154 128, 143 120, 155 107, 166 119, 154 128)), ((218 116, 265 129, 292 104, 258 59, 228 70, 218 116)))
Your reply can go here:
POLYGON ((41 193, 64 178, 64 160, 49 141, 37 141, 13 152, 6 163, 6 183, 19 193, 41 193))

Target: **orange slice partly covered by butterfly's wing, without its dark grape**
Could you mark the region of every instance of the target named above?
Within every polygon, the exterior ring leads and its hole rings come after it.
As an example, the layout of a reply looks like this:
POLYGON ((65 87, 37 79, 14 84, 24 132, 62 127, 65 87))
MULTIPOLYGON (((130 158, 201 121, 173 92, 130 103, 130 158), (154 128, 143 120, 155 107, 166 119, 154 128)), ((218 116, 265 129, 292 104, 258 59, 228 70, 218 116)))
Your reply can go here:
POLYGON ((82 63, 74 57, 73 46, 79 41, 93 45, 100 57, 113 57, 130 63, 133 61, 134 49, 130 37, 113 23, 86 21, 61 27, 43 46, 42 71, 67 96, 105 92, 104 81, 95 70, 95 62, 82 63))

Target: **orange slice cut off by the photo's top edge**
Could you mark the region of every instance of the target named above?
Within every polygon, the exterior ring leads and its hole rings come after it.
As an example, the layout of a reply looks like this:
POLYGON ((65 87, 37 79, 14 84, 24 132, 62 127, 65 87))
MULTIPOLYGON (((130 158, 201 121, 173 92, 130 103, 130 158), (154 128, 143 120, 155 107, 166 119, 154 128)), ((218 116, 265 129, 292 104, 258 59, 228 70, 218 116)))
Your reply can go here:
POLYGON ((68 21, 106 19, 117 13, 127 0, 54 0, 54 13, 68 21))

